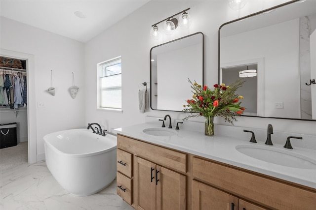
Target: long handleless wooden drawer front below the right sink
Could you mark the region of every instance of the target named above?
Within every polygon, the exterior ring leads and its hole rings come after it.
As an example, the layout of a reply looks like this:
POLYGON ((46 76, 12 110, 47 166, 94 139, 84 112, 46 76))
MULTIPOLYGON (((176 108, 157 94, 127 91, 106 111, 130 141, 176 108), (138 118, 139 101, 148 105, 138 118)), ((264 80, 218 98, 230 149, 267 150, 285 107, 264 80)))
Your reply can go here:
POLYGON ((278 210, 312 210, 316 193, 237 167, 193 157, 193 179, 278 210), (280 196, 282 195, 282 196, 280 196))

